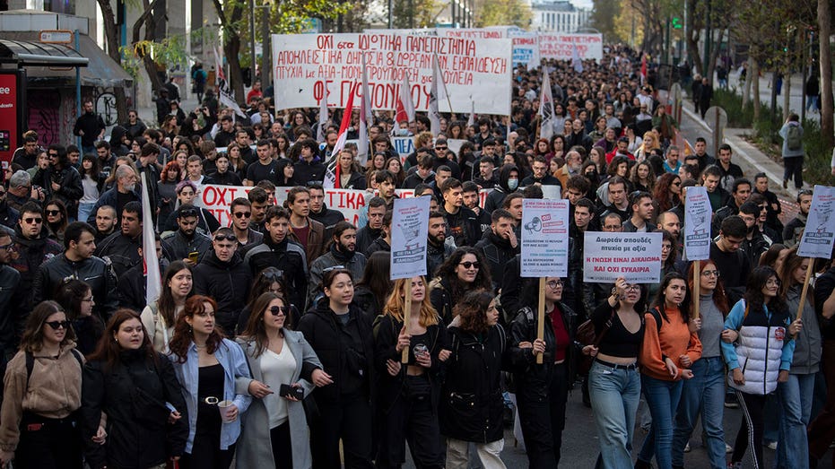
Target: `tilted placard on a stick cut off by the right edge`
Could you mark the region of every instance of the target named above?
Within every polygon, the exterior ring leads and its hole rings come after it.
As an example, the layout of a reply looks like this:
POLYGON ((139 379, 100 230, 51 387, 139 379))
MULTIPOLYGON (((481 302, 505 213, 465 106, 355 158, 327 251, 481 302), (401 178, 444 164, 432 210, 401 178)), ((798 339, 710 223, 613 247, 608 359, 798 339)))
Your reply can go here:
POLYGON ((806 228, 797 248, 797 256, 823 257, 832 255, 835 241, 835 187, 815 186, 812 207, 806 218, 806 228))

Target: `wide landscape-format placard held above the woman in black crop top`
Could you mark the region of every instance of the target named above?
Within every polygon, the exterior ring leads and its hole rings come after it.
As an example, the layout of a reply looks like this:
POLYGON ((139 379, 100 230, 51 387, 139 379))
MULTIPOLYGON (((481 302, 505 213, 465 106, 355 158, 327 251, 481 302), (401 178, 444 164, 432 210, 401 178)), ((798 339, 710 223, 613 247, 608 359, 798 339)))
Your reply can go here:
MULTIPOLYGON (((523 212, 524 213, 524 212, 523 212)), ((583 282, 661 282, 661 239, 655 233, 586 231, 583 282)))

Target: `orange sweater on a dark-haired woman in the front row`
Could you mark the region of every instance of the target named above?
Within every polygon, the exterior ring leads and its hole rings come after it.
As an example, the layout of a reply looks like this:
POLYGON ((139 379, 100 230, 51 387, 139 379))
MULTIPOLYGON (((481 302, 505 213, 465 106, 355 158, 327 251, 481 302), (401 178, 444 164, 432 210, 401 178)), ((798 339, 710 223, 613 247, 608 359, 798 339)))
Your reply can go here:
MULTIPOLYGON (((687 323, 683 322, 682 312, 678 308, 665 308, 670 322, 662 319, 661 332, 658 332, 656 318, 652 313, 644 315, 647 326, 644 329, 644 343, 640 350, 640 372, 656 379, 673 380, 667 371, 664 359, 673 359, 679 369, 689 368, 682 365, 680 357, 687 355, 692 362, 701 358, 701 342, 696 334, 691 334, 687 323)), ((660 316, 659 316, 660 317, 660 316)), ((681 379, 681 373, 678 378, 681 379)))

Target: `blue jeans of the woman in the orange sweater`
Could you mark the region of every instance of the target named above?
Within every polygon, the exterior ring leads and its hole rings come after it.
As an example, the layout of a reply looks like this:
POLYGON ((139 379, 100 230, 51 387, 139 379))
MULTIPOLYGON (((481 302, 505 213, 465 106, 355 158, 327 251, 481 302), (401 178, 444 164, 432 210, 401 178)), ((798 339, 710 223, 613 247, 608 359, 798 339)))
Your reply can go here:
POLYGON ((652 415, 652 428, 644 439, 638 459, 652 461, 656 456, 658 469, 673 467, 673 416, 682 397, 683 382, 666 381, 647 375, 640 376, 640 384, 647 397, 649 413, 652 415))

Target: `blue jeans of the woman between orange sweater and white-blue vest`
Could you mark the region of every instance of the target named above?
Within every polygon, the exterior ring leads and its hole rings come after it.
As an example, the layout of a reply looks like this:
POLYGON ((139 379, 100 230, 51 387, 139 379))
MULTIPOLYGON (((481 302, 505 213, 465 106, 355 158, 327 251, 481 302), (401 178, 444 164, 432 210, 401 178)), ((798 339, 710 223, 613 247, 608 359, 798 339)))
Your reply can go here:
POLYGON ((673 465, 684 465, 684 447, 701 413, 701 427, 707 435, 708 456, 712 469, 724 469, 725 363, 720 357, 696 360, 693 378, 684 381, 682 398, 675 413, 673 430, 673 465))

